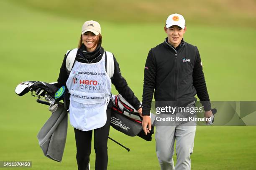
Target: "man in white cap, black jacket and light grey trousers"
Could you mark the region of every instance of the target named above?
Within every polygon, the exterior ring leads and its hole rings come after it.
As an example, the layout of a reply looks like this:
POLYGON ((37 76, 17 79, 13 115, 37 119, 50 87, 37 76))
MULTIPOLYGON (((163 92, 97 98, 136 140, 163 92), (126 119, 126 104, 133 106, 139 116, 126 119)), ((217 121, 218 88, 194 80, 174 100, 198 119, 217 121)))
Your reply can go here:
MULTIPOLYGON (((187 28, 182 15, 172 14, 166 20, 164 42, 152 48, 146 60, 143 85, 143 130, 151 130, 151 101, 175 101, 178 107, 194 107, 199 97, 205 117, 211 117, 211 104, 202 62, 196 46, 183 40, 187 28), (148 128, 147 128, 148 125, 148 128)), ((178 114, 176 112, 175 114, 178 114)), ((190 113, 189 113, 190 114, 190 113)), ((156 124, 156 154, 161 170, 174 170, 174 141, 177 164, 175 170, 190 170, 196 126, 156 124)))

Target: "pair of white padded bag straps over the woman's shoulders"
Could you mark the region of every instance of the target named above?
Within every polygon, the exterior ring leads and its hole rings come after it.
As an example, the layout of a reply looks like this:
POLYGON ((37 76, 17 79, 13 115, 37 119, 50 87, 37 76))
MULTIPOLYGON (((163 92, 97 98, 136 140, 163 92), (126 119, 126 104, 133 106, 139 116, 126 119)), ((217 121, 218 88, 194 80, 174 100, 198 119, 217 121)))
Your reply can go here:
MULTIPOLYGON (((73 50, 69 50, 66 53, 67 59, 66 59, 66 70, 68 75, 70 74, 70 71, 73 68, 74 61, 76 59, 78 52, 78 48, 74 48, 73 50)), ((106 59, 106 72, 108 76, 111 78, 113 77, 115 65, 114 65, 114 56, 111 52, 105 51, 105 59, 106 59)))

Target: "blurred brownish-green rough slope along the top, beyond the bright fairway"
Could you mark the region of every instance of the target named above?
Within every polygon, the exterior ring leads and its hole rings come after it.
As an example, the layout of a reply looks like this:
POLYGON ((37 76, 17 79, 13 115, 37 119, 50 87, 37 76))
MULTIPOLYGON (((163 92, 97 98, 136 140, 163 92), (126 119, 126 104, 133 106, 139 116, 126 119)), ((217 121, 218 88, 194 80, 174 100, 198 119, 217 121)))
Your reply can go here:
MULTIPOLYGON (((185 16, 187 25, 226 25, 256 28, 255 0, 10 0, 24 7, 67 18, 114 23, 164 23, 171 13, 185 16), (90 18, 89 18, 90 16, 90 18), (92 18, 91 18, 92 16, 92 18)), ((164 24, 162 24, 164 25, 164 24)))

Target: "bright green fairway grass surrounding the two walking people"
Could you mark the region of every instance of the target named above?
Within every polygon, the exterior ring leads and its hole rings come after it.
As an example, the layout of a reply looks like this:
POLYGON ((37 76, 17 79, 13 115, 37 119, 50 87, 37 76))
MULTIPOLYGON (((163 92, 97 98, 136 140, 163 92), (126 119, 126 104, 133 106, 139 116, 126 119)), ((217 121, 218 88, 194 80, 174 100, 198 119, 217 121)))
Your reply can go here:
MULTIPOLYGON (((0 160, 30 160, 34 170, 74 170, 76 148, 71 125, 62 163, 45 158, 36 135, 50 112, 29 94, 18 97, 14 89, 25 80, 56 81, 64 53, 78 44, 84 19, 67 17, 68 12, 64 15, 64 12, 56 14, 44 8, 31 8, 28 2, 20 5, 16 1, 0 1, 0 160)), ((146 56, 151 47, 163 42, 164 23, 113 21, 102 19, 100 22, 103 47, 114 53, 123 76, 141 100, 146 56)), ((188 25, 184 38, 200 50, 211 100, 256 100, 256 30, 253 27, 197 25, 196 22, 188 25)), ((113 90, 113 93, 117 92, 113 90)), ((255 169, 255 131, 255 126, 197 127, 192 169, 255 169)), ((129 147, 131 152, 109 141, 108 169, 160 169, 154 140, 131 138, 112 128, 110 137, 129 147)), ((92 150, 91 165, 94 163, 92 150)))

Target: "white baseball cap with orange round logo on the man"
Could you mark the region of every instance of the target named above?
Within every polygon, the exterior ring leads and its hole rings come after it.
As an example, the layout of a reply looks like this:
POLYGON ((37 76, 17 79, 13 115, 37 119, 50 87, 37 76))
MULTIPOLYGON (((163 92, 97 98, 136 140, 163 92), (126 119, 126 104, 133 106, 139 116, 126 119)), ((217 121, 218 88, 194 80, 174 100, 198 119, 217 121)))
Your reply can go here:
POLYGON ((180 14, 170 15, 166 20, 165 26, 166 28, 169 28, 172 25, 178 25, 180 28, 184 29, 186 25, 184 17, 180 14))

